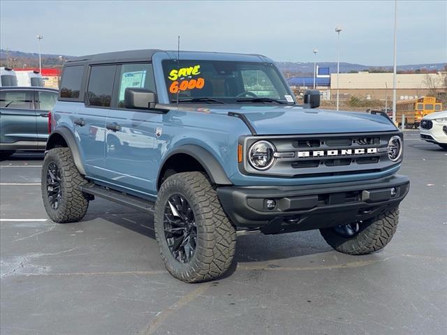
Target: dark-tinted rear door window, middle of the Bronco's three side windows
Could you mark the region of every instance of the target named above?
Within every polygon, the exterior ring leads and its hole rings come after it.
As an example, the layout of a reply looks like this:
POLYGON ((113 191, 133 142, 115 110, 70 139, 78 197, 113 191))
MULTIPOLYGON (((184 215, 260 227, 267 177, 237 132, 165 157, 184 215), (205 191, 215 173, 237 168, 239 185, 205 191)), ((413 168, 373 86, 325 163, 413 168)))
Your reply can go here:
POLYGON ((89 105, 110 107, 115 68, 115 65, 91 66, 87 89, 89 105))

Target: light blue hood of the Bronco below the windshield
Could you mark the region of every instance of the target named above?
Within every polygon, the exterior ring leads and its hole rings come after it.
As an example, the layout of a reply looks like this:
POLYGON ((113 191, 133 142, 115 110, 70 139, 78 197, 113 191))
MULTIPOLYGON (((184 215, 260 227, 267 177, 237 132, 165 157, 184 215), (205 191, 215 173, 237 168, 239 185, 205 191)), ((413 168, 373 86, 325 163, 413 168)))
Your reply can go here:
POLYGON ((379 114, 305 109, 292 105, 219 105, 196 108, 200 112, 245 114, 258 135, 318 133, 367 133, 396 131, 389 119, 379 114))

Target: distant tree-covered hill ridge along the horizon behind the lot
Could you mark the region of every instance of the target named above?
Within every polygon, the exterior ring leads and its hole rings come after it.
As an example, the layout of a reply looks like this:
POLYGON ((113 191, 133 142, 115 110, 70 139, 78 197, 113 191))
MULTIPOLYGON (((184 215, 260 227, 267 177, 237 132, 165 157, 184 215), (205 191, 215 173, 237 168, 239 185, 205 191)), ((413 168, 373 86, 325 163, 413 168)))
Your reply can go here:
MULTIPOLYGON (((24 64, 28 67, 38 66, 38 53, 34 52, 21 52, 14 50, 0 50, 0 63, 1 66, 6 66, 6 59, 9 54, 10 66, 22 68, 24 64)), ((66 59, 73 58, 73 56, 60 55, 60 54, 42 54, 42 66, 59 67, 66 59)), ((321 61, 317 63, 321 68, 330 68, 330 73, 337 72, 337 63, 335 61, 321 61)), ((424 72, 440 71, 447 63, 429 63, 429 64, 410 64, 397 66, 398 71, 416 71, 423 70, 424 72)), ((295 75, 309 76, 314 73, 314 63, 312 62, 291 62, 291 61, 277 61, 277 66, 283 73, 288 73, 290 77, 295 75)), ((393 66, 370 66, 362 64, 353 64, 340 62, 340 72, 349 73, 364 70, 377 70, 381 72, 392 72, 393 66)))

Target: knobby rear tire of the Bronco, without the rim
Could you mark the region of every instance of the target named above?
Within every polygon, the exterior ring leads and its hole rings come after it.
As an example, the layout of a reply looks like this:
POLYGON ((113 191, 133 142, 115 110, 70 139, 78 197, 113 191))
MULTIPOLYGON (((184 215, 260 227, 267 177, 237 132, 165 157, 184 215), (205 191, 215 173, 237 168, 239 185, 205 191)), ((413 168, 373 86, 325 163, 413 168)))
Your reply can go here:
POLYGON ((47 152, 43 160, 41 188, 45 210, 51 220, 56 223, 80 221, 87 213, 89 200, 80 191, 80 186, 87 181, 76 168, 69 148, 54 148, 47 152), (53 209, 47 196, 47 169, 55 163, 61 174, 61 203, 53 209))

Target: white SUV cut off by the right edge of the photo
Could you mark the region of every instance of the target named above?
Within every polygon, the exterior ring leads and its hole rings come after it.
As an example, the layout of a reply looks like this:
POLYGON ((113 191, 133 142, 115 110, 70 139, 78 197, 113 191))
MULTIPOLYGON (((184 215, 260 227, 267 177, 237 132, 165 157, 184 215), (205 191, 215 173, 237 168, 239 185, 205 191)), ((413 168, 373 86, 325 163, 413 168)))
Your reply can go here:
POLYGON ((420 138, 447 149, 447 110, 425 115, 420 121, 420 138))

